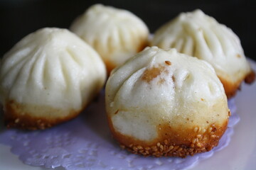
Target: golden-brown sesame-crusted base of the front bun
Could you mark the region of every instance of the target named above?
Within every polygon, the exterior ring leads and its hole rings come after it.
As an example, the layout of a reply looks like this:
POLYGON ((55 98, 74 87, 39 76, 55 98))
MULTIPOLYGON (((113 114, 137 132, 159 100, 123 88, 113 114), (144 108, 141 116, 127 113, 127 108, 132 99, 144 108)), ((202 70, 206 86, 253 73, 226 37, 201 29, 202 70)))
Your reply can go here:
POLYGON ((134 139, 128 135, 122 135, 114 130, 111 119, 108 118, 113 137, 119 142, 120 147, 134 154, 154 157, 186 157, 188 155, 207 152, 218 145, 228 126, 228 120, 222 125, 209 125, 207 130, 199 126, 194 128, 172 128, 169 124, 159 125, 159 136, 150 141, 134 139))

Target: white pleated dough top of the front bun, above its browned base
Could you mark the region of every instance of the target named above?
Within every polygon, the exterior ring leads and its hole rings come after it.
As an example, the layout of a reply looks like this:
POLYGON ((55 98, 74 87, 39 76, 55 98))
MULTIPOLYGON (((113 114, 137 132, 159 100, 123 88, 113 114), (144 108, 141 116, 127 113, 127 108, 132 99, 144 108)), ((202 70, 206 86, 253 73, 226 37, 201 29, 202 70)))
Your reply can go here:
POLYGON ((213 67, 158 47, 147 47, 114 69, 106 85, 106 108, 117 132, 146 141, 159 136, 160 124, 207 129, 228 120, 227 97, 213 67))

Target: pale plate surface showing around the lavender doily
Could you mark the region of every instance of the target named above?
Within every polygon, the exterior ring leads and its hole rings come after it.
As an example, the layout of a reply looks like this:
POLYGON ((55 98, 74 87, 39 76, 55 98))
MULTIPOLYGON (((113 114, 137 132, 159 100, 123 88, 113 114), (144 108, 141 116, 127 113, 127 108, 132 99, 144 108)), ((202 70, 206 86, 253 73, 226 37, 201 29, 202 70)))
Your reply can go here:
MULTIPOLYGON (((252 69, 256 70, 256 63, 253 61, 250 63, 252 69)), ((192 170, 256 169, 256 83, 250 86, 242 84, 242 91, 237 94, 235 101, 240 122, 235 126, 230 145, 220 152, 215 152, 213 157, 199 162, 192 170)), ((1 144, 0 167, 6 170, 43 170, 40 167, 23 164, 16 155, 10 152, 10 147, 1 144)))

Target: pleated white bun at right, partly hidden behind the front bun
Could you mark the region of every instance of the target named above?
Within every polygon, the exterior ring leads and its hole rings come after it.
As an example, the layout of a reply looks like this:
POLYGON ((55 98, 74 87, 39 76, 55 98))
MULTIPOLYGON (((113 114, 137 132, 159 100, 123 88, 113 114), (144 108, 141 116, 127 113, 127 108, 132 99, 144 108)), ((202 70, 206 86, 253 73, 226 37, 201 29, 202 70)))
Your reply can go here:
POLYGON ((228 97, 235 95, 243 80, 255 79, 238 36, 201 10, 181 13, 166 23, 156 30, 151 45, 173 47, 212 64, 228 97))

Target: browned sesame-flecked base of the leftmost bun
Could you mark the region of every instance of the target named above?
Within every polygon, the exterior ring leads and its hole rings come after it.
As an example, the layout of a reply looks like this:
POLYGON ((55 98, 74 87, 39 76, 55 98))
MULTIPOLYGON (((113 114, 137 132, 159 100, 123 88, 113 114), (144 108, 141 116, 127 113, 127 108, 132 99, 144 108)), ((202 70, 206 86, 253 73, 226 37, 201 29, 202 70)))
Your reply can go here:
POLYGON ((43 111, 45 116, 35 116, 31 112, 30 107, 15 101, 7 102, 4 106, 4 124, 6 127, 24 130, 43 130, 73 119, 80 113, 80 111, 69 111, 68 115, 61 117, 63 110, 40 106, 37 108, 41 109, 41 113, 43 111), (55 115, 55 113, 58 113, 58 115, 55 115))

